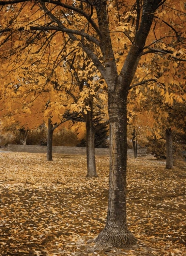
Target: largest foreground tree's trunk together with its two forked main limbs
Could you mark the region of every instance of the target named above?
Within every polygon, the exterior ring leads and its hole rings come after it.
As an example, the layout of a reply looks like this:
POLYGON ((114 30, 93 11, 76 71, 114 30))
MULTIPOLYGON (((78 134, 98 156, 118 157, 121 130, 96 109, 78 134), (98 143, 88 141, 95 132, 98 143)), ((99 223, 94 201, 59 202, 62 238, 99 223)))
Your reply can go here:
POLYGON ((99 1, 98 3, 97 1, 98 25, 100 31, 103 32, 103 36, 99 39, 106 70, 106 75, 103 74, 103 76, 108 84, 110 125, 108 213, 106 226, 96 239, 98 244, 131 247, 137 243, 137 239, 128 230, 126 222, 127 94, 159 2, 158 0, 149 0, 148 4, 144 6, 145 10, 143 11, 139 30, 118 76, 111 40, 107 32, 109 31, 109 23, 106 2, 99 1))

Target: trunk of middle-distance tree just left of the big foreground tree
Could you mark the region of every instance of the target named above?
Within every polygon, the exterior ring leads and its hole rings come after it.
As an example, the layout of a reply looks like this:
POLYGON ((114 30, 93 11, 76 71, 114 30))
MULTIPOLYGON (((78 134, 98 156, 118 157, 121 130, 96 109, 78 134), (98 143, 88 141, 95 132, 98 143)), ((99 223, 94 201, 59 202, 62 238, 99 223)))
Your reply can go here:
POLYGON ((86 130, 87 130, 87 176, 97 177, 96 173, 96 160, 95 160, 95 128, 93 125, 93 110, 88 111, 86 114, 86 130))

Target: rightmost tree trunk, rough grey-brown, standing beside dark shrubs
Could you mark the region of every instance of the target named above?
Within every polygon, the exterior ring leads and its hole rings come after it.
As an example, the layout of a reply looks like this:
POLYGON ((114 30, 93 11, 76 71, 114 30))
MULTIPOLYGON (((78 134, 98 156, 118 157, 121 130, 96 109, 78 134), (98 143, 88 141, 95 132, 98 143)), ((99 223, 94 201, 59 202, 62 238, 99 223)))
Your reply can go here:
POLYGON ((166 135, 166 154, 167 154, 166 169, 172 169, 173 168, 173 159, 172 159, 172 131, 171 131, 171 129, 166 129, 165 135, 166 135))

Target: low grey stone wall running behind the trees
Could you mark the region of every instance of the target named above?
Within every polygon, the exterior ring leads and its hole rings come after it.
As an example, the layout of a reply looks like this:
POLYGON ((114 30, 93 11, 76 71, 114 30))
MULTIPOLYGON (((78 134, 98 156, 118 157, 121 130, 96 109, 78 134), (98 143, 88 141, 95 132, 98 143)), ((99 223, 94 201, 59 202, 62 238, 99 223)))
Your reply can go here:
MULTIPOLYGON (((13 145, 8 144, 7 151, 28 152, 28 153, 46 153, 47 146, 37 145, 13 145)), ((68 155, 86 155, 86 147, 64 147, 52 146, 52 153, 68 154, 68 155)), ((109 155, 109 148, 95 148, 96 155, 109 155)), ((146 156, 146 149, 138 150, 138 157, 146 156)), ((134 157, 133 150, 127 150, 128 157, 134 157)))

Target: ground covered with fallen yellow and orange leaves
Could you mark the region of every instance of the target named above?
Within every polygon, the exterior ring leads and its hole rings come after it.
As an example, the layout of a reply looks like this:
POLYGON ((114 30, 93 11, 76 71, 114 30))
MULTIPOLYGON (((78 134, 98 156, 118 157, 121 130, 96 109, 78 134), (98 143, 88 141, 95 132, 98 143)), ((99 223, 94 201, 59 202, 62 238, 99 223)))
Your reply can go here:
POLYGON ((133 250, 87 243, 105 225, 108 157, 87 179, 86 157, 0 153, 0 255, 186 255, 186 164, 128 159, 128 227, 133 250))

